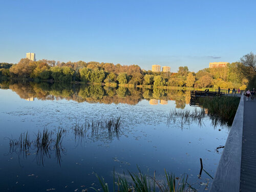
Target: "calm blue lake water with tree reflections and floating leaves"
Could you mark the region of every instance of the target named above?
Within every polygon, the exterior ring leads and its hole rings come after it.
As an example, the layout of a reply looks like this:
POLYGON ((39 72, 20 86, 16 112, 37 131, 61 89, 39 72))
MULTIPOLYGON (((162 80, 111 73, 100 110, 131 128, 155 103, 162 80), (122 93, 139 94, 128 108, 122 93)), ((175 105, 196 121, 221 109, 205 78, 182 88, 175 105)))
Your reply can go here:
MULTIPOLYGON (((94 173, 112 187, 113 170, 118 174, 138 172, 137 166, 159 180, 167 172, 188 174, 188 183, 199 191, 209 188, 229 127, 214 126, 208 118, 203 125, 167 122, 170 109, 194 110, 189 92, 178 90, 118 90, 100 86, 34 82, 0 83, 0 188, 1 191, 84 191, 100 188, 94 173), (77 137, 72 128, 84 121, 120 117, 118 137, 108 131, 90 131, 77 137), (28 132, 30 141, 39 131, 65 129, 60 151, 51 147, 38 153, 34 143, 28 151, 10 147, 10 139, 28 132), (221 130, 221 131, 219 131, 221 130)), ((129 179, 129 178, 128 178, 129 179)))

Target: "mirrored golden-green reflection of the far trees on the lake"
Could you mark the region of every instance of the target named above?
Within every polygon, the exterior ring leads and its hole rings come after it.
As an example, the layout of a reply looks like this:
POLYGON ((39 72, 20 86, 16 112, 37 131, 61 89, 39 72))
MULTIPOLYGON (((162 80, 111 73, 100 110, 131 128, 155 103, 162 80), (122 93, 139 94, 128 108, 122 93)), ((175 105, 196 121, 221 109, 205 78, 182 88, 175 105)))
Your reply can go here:
POLYGON ((1 89, 11 89, 20 98, 28 101, 67 99, 77 102, 91 103, 126 103, 135 105, 142 99, 150 104, 167 104, 174 100, 176 108, 184 109, 189 103, 190 92, 183 90, 136 89, 119 87, 109 88, 100 85, 84 85, 71 83, 0 81, 1 89))

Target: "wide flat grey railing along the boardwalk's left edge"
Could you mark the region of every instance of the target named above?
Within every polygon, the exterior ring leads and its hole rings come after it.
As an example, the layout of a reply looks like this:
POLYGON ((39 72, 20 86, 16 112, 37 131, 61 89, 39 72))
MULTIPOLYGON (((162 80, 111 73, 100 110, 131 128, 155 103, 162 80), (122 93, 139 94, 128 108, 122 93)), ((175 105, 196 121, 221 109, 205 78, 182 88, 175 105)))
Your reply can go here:
POLYGON ((210 192, 239 192, 244 119, 244 95, 241 95, 210 192))

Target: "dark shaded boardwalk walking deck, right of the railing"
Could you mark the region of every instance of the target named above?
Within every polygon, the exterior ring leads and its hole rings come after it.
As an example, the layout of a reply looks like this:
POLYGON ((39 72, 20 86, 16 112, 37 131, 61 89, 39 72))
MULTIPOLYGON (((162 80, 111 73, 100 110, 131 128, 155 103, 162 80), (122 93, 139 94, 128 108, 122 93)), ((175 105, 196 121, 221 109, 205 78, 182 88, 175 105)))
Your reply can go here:
POLYGON ((240 191, 256 191, 256 99, 244 98, 240 191))

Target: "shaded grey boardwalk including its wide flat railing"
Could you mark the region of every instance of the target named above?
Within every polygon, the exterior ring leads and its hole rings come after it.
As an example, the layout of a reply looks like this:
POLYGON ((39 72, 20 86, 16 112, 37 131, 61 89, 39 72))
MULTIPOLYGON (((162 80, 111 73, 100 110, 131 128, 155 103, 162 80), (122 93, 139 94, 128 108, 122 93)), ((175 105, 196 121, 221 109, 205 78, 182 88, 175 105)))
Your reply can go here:
POLYGON ((241 95, 210 192, 256 191, 256 99, 241 95))

